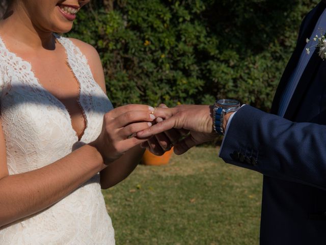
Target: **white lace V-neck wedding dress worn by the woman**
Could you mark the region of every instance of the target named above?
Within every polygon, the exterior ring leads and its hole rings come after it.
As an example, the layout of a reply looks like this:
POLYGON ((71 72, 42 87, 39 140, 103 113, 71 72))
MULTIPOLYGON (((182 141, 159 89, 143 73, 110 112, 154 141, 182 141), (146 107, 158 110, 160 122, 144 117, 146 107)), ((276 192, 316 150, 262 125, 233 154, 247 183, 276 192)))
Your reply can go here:
MULTIPOLYGON (((79 82, 87 127, 78 141, 65 106, 41 86, 30 63, 11 53, 0 38, 1 120, 10 175, 48 165, 95 140, 104 113, 113 108, 78 47, 67 38, 57 39, 79 82)), ((99 174, 46 210, 0 228, 0 244, 115 244, 99 174)))

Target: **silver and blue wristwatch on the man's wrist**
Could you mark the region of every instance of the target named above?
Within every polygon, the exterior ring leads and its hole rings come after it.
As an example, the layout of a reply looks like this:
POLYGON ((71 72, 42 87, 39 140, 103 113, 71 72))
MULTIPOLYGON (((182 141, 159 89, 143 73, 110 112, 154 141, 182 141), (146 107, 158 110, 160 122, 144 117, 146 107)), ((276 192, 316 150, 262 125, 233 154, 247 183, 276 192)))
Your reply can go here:
POLYGON ((224 115, 233 111, 237 111, 240 106, 241 104, 237 100, 222 99, 215 101, 213 106, 213 129, 216 133, 224 135, 224 115))

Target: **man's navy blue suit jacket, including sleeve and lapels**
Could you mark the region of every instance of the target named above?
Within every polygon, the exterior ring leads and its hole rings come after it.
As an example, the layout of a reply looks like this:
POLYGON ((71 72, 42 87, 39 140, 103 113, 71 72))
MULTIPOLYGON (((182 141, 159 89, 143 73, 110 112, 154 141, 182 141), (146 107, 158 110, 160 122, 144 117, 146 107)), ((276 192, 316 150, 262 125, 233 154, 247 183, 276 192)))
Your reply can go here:
POLYGON ((271 114, 251 106, 233 117, 220 156, 263 178, 260 244, 326 244, 326 61, 312 55, 284 118, 281 94, 315 24, 319 3, 303 20, 271 114))

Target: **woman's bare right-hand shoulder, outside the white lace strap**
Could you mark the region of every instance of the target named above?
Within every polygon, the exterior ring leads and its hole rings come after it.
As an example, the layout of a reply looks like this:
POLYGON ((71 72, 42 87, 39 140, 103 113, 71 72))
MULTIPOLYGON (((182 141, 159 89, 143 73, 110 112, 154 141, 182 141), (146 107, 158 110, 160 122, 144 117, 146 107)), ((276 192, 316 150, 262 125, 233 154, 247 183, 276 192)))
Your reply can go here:
POLYGON ((95 47, 79 39, 75 39, 75 38, 68 38, 68 39, 79 48, 80 52, 82 52, 83 55, 85 55, 95 81, 100 85, 102 90, 105 91, 105 82, 104 82, 102 63, 101 63, 100 56, 98 55, 95 47))

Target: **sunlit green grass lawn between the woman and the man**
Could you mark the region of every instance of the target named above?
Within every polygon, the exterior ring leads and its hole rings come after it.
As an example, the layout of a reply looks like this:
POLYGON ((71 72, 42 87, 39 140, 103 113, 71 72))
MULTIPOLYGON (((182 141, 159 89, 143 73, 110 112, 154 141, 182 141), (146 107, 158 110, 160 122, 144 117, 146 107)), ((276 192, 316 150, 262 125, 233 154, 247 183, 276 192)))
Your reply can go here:
POLYGON ((120 244, 258 244, 262 175, 226 164, 215 148, 139 165, 103 190, 120 244))

